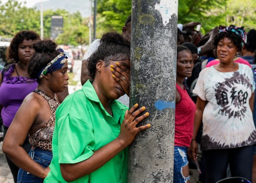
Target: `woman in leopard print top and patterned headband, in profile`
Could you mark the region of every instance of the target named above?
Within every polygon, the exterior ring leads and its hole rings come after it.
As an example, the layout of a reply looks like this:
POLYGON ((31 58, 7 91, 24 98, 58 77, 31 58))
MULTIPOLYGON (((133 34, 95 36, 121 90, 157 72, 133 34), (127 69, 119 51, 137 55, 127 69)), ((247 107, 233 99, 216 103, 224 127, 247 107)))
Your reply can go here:
POLYGON ((17 182, 43 183, 52 160, 52 135, 55 111, 59 106, 56 93, 67 88, 67 56, 56 50, 51 40, 40 40, 33 45, 28 73, 37 79, 38 87, 24 99, 3 142, 3 152, 20 167, 17 182), (21 147, 26 135, 32 149, 29 155, 21 147))

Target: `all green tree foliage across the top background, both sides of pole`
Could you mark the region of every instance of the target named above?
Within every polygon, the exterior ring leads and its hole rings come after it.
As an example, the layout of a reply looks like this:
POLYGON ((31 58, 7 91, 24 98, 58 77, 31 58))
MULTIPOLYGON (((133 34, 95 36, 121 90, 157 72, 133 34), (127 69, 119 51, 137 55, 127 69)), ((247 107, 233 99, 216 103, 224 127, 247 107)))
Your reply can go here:
MULTIPOLYGON (((96 37, 107 31, 121 32, 126 18, 131 14, 131 0, 97 0, 96 37)), ((17 0, 0 1, 0 36, 13 37, 20 30, 40 33, 40 11, 27 8, 17 0)), ((255 0, 179 0, 178 22, 202 23, 203 33, 218 25, 243 25, 246 30, 256 28, 255 0)), ((56 38, 58 44, 81 45, 88 43, 89 18, 79 12, 70 14, 63 9, 44 11, 44 39, 51 37, 51 17, 64 18, 63 34, 56 38)))

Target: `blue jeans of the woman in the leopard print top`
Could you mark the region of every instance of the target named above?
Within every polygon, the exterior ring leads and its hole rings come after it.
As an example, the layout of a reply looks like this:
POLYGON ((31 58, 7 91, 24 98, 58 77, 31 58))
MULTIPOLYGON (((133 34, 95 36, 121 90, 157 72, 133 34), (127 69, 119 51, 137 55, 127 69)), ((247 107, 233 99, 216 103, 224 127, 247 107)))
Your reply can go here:
MULTIPOLYGON (((30 150, 29 156, 44 168, 49 166, 52 160, 52 152, 37 147, 30 150)), ((20 169, 17 177, 17 183, 44 183, 44 179, 20 169)))

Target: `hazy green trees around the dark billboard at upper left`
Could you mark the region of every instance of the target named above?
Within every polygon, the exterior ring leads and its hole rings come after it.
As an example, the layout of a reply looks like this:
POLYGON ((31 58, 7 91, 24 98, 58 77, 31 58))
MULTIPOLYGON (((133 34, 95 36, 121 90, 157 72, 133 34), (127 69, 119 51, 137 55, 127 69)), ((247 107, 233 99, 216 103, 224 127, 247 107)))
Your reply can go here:
MULTIPOLYGON (((26 8, 25 3, 8 0, 5 4, 0 1, 0 36, 13 37, 21 30, 34 30, 40 34, 40 11, 26 8)), ((51 17, 61 15, 64 19, 63 34, 55 40, 58 44, 81 45, 89 42, 87 19, 80 12, 70 14, 67 10, 44 11, 44 39, 51 38, 51 17)))

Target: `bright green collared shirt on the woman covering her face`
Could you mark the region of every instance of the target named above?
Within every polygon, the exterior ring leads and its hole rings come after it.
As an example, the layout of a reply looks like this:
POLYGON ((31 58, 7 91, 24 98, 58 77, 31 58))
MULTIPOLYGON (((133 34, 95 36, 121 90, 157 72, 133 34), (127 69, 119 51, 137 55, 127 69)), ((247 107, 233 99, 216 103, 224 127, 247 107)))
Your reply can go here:
MULTIPOLYGON (((67 96, 56 110, 52 138, 51 171, 44 183, 66 183, 61 176, 60 163, 78 163, 90 158, 93 152, 116 139, 125 110, 118 101, 111 102, 113 117, 102 103, 88 80, 81 90, 67 96)), ((73 183, 126 183, 127 148, 90 175, 73 183)))

